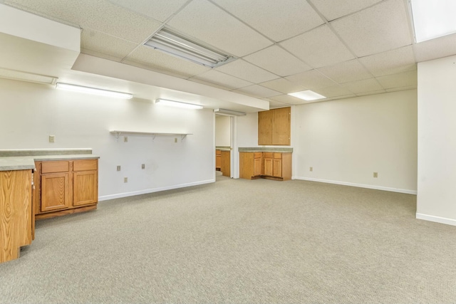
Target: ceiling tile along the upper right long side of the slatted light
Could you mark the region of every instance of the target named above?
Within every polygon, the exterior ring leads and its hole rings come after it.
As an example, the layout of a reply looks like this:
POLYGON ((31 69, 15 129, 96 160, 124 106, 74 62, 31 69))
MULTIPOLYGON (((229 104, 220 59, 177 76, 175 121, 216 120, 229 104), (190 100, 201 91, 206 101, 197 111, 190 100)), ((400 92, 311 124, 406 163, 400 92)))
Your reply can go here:
POLYGON ((238 57, 272 44, 269 39, 206 0, 193 0, 168 24, 209 46, 238 57))

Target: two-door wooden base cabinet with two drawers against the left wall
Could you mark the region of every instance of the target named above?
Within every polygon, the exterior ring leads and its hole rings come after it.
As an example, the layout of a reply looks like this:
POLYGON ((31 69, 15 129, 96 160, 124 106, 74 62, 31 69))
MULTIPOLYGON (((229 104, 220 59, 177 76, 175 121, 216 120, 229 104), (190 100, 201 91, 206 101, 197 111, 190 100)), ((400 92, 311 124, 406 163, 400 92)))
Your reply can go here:
POLYGON ((98 159, 35 162, 36 219, 96 209, 98 159))

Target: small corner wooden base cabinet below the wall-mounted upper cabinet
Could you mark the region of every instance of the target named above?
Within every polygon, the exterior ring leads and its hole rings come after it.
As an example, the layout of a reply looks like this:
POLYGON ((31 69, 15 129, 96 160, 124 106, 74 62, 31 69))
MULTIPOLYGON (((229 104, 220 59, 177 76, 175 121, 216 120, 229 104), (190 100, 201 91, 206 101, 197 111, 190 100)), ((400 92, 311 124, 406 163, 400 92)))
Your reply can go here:
POLYGON ((291 179, 291 153, 239 152, 239 177, 242 179, 291 179))

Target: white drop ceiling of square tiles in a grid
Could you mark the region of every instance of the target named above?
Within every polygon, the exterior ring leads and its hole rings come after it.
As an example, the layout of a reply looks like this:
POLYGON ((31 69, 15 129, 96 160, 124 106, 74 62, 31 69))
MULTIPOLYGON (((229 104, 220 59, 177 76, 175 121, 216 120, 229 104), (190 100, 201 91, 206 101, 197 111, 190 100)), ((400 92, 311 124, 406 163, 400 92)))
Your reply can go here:
POLYGON ((265 100, 271 108, 305 103, 287 95, 299 90, 324 100, 410 90, 417 87, 416 63, 456 54, 456 34, 414 42, 407 0, 0 3, 81 28, 83 55, 265 100), (143 46, 163 26, 237 60, 207 68, 143 46))

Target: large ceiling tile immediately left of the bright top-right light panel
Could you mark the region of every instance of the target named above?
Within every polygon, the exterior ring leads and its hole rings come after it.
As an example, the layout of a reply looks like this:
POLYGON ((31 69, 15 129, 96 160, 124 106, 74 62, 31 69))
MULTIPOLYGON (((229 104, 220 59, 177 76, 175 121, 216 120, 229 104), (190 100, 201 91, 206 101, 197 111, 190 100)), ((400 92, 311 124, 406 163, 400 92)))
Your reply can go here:
POLYGON ((368 56, 412 44, 405 1, 388 0, 331 22, 356 56, 368 56))

